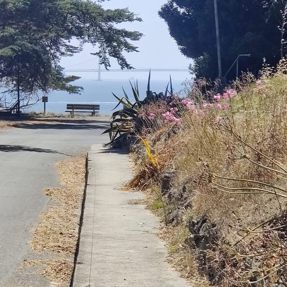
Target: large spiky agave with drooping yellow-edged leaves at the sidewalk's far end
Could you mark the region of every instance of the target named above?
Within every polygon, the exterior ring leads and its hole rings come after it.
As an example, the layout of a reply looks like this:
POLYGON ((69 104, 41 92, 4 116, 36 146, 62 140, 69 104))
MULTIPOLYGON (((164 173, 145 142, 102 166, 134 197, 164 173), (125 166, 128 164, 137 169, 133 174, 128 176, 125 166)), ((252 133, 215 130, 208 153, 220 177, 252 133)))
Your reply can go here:
POLYGON ((142 119, 140 121, 141 124, 136 123, 138 122, 136 121, 136 119, 138 118, 139 109, 144 105, 158 102, 159 100, 163 100, 166 102, 171 101, 173 89, 170 77, 170 82, 168 82, 165 93, 161 92, 157 94, 156 92, 152 92, 150 90, 150 76, 151 73, 149 74, 148 77, 148 89, 146 91, 146 97, 144 98, 144 100, 141 100, 139 97, 139 88, 137 82, 133 86, 131 81, 129 81, 133 91, 133 96, 135 98, 134 103, 129 100, 129 97, 125 92, 124 88, 123 88, 124 97, 122 98, 119 98, 113 93, 114 97, 119 101, 114 110, 121 104, 123 104, 123 108, 113 113, 111 118, 112 121, 110 122, 110 128, 104 131, 104 133, 109 133, 110 135, 109 144, 113 144, 115 142, 120 143, 123 139, 126 139, 129 135, 131 136, 138 134, 139 130, 143 126, 152 128, 152 125, 155 126, 157 125, 156 121, 154 123, 151 123, 150 121, 147 121, 145 119, 142 119), (169 85, 170 85, 170 91, 168 91, 169 85))

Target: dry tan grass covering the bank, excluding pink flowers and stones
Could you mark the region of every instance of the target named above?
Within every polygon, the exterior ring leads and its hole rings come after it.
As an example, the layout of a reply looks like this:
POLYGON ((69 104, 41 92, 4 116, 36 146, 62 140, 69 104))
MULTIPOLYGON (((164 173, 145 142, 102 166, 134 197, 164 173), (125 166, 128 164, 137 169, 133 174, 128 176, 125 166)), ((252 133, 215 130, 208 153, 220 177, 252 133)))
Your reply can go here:
MULTIPOLYGON (((286 64, 283 66, 286 70, 286 64)), ((214 256, 214 261, 207 269, 213 268, 213 271, 225 274, 226 278, 220 286, 247 286, 248 280, 258 280, 259 284, 271 286, 279 278, 276 272, 285 272, 286 246, 285 240, 280 241, 280 236, 284 238, 286 228, 276 232, 264 231, 270 228, 265 222, 271 218, 276 218, 276 222, 281 222, 283 226, 286 224, 286 198, 277 196, 279 189, 283 196, 287 194, 285 70, 279 69, 271 76, 266 73, 267 82, 260 84, 257 91, 254 91, 255 80, 251 77, 247 77, 245 86, 235 83, 240 92, 228 100, 232 107, 230 110, 206 109, 200 116, 185 112, 181 115, 180 127, 166 125, 147 135, 153 156, 160 163, 156 172, 150 168, 142 147, 137 151, 139 170, 129 187, 158 189, 160 176, 167 170, 174 170, 173 188, 180 191, 185 185, 192 198, 192 206, 188 210, 182 209, 183 212, 206 216, 216 224, 220 242, 217 247, 210 247, 212 254, 209 256, 214 256), (254 188, 257 191, 276 191, 276 194, 254 194, 254 188), (242 189, 245 194, 228 193, 242 189), (260 224, 263 225, 256 232, 262 232, 262 236, 250 232, 260 224), (237 244, 243 236, 244 240, 237 244), (234 244, 234 249, 228 247, 234 244), (277 256, 276 262, 272 254, 277 256), (244 256, 253 258, 252 267, 246 263, 244 256)), ((154 200, 157 198, 154 197, 154 200)), ((168 199, 167 204, 170 204, 168 199)), ((180 203, 173 204, 182 208, 180 203)), ((168 210, 172 211, 172 208, 168 210)), ((164 229, 162 235, 172 249, 172 264, 184 277, 197 274, 193 258, 196 255, 193 256, 189 247, 182 243, 190 236, 187 222, 183 218, 178 226, 164 229)), ((276 224, 272 226, 277 228, 280 225, 276 224)))

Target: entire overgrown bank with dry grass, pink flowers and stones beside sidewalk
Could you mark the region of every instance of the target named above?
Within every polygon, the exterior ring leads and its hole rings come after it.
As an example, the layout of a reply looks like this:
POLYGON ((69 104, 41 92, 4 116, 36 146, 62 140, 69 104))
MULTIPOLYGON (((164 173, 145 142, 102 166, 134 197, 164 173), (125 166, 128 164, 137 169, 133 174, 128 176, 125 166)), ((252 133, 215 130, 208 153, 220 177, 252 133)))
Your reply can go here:
POLYGON ((259 80, 244 74, 222 95, 199 79, 185 98, 138 111, 133 124, 149 124, 134 129, 137 172, 127 188, 154 200, 173 263, 187 278, 286 286, 286 67, 265 67, 259 80), (167 190, 163 177, 171 179, 167 190))

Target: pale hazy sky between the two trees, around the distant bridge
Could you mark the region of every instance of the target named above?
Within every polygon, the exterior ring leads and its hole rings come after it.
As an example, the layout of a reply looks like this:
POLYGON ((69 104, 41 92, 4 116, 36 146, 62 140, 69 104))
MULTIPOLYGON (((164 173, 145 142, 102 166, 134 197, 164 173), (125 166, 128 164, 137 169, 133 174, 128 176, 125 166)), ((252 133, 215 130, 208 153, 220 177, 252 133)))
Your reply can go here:
MULTIPOLYGON (((143 22, 123 23, 120 27, 127 30, 137 30, 145 36, 135 41, 135 45, 139 47, 139 53, 127 53, 126 58, 133 67, 143 68, 179 68, 188 67, 191 59, 187 59, 178 49, 176 42, 170 37, 168 26, 158 16, 158 10, 166 3, 167 0, 110 0, 105 1, 101 5, 104 8, 125 8, 129 7, 130 11, 139 14, 143 22)), ((95 52, 96 47, 85 45, 84 51, 73 57, 64 58, 61 61, 63 67, 67 69, 97 69, 98 59, 88 61, 95 58, 90 53, 95 52), (86 63, 81 63, 88 61, 86 63), (81 64, 78 64, 81 63, 81 64), (78 64, 78 65, 75 65, 78 64), (71 66, 73 65, 73 66, 71 66), (70 66, 70 67, 68 67, 70 66)), ((119 68, 116 60, 111 58, 113 69, 119 68)), ((95 78, 97 75, 93 73, 73 73, 83 78, 95 78)), ((148 73, 145 72, 102 72, 102 79, 128 79, 129 77, 138 79, 147 79, 148 73)), ((189 72, 173 72, 173 79, 184 80, 190 78, 189 72)), ((152 79, 166 80, 169 77, 168 72, 153 72, 152 79)))

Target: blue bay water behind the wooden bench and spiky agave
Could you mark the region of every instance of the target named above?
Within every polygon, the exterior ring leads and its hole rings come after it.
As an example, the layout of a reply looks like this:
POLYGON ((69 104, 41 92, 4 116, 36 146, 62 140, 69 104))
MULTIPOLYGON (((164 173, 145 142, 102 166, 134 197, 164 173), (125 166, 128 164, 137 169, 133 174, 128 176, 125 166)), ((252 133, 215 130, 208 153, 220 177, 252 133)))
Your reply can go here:
MULTIPOLYGON (((131 81, 134 83, 134 80, 131 81)), ((179 92, 182 89, 182 81, 172 81, 172 86, 175 92, 179 92)), ((74 82, 75 85, 82 86, 84 91, 80 95, 70 95, 63 91, 53 91, 48 94, 48 103, 46 103, 46 112, 65 114, 67 104, 99 104, 100 115, 110 116, 113 113, 113 109, 117 106, 117 99, 113 96, 112 92, 119 98, 124 97, 123 88, 127 93, 131 102, 134 102, 134 96, 127 80, 104 80, 102 82, 93 81, 92 79, 79 79, 74 82)), ((168 81, 151 81, 150 90, 153 92, 165 92, 168 81)), ((147 80, 138 80, 139 96, 144 99, 147 90, 147 80)), ((170 89, 169 89, 170 90, 170 89)), ((21 101, 21 104, 26 100, 21 101)), ((122 107, 122 105, 121 105, 122 107)), ((42 112, 44 104, 38 102, 37 104, 24 110, 25 113, 30 111, 42 112)), ((117 108, 119 109, 119 107, 117 108)), ((89 115, 87 113, 87 115, 89 115)))

